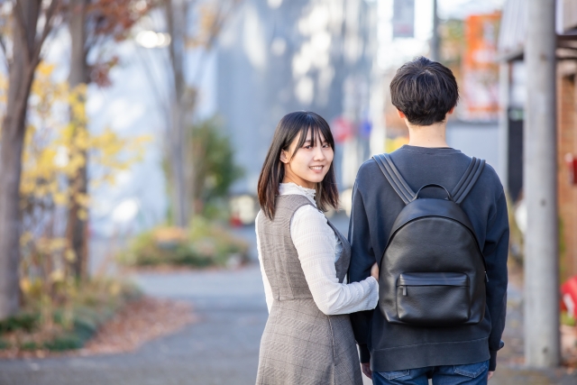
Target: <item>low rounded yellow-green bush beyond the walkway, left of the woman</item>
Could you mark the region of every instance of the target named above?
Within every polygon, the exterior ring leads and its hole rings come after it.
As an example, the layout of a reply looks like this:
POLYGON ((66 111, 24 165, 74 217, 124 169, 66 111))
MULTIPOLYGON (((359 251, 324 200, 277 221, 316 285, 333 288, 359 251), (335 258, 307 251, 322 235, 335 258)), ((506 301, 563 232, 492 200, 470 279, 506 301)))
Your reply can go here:
POLYGON ((223 226, 197 216, 188 230, 159 227, 139 234, 118 256, 125 265, 224 266, 232 256, 246 259, 248 244, 223 226))

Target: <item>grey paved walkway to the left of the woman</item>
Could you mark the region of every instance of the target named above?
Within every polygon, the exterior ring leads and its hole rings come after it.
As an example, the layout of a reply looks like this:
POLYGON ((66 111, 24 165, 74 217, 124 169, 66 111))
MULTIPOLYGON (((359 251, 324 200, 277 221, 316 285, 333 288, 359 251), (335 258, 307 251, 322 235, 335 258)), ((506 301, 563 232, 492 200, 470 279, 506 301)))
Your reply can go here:
POLYGON ((149 295, 192 301, 198 322, 134 353, 0 361, 0 385, 253 384, 267 309, 260 270, 146 274, 149 295))

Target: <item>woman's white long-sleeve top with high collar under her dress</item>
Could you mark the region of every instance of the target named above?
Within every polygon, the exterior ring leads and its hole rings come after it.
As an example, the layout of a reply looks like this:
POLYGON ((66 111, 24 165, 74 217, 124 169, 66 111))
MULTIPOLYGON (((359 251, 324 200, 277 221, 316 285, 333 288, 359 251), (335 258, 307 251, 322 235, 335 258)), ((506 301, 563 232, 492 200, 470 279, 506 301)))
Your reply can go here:
MULTIPOLYGON (((316 306, 325 315, 348 314, 370 310, 377 306, 379 284, 373 277, 350 284, 339 283, 334 262, 341 255, 343 245, 327 224, 326 217, 316 209, 315 190, 303 188, 295 183, 281 183, 280 195, 298 194, 307 197, 314 206, 301 206, 290 221, 290 237, 294 243, 298 260, 305 273, 316 306)), ((256 217, 256 243, 261 263, 262 282, 267 307, 272 307, 272 289, 264 271, 259 239, 258 223, 262 212, 256 217)))

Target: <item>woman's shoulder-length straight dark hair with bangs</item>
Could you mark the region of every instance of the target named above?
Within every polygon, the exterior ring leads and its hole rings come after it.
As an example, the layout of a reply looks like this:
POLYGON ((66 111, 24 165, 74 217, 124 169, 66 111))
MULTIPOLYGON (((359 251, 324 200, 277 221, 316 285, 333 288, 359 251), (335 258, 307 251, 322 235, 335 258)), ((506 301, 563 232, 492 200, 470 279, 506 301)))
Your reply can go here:
MULTIPOLYGON (((298 137, 294 156, 303 144, 307 141, 307 134, 311 131, 311 145, 319 140, 322 134, 325 141, 334 151, 333 133, 329 125, 322 116, 312 112, 295 112, 284 115, 280 119, 277 129, 272 137, 269 152, 262 164, 261 176, 259 177, 259 203, 264 215, 270 219, 274 218, 275 204, 279 196, 279 183, 285 178, 284 163, 280 161, 280 151, 289 151, 290 144, 298 137)), ((339 192, 336 188, 336 179, 334 178, 334 166, 331 167, 325 175, 323 181, 316 183, 316 206, 326 211, 329 206, 337 208, 339 204, 339 192)))

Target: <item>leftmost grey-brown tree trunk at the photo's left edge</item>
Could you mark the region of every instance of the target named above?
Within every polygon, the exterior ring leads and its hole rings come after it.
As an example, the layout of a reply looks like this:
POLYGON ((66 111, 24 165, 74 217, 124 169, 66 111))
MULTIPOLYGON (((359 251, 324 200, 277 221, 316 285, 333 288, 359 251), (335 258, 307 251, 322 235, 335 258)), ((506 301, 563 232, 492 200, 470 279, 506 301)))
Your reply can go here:
MULTIPOLYGON (((14 58, 9 68, 8 100, 0 138, 0 319, 14 315, 20 304, 19 265, 22 217, 20 179, 26 107, 38 57, 34 57, 40 2, 19 2, 20 22, 14 22, 14 58)), ((14 11, 17 11, 15 8, 14 11)))

